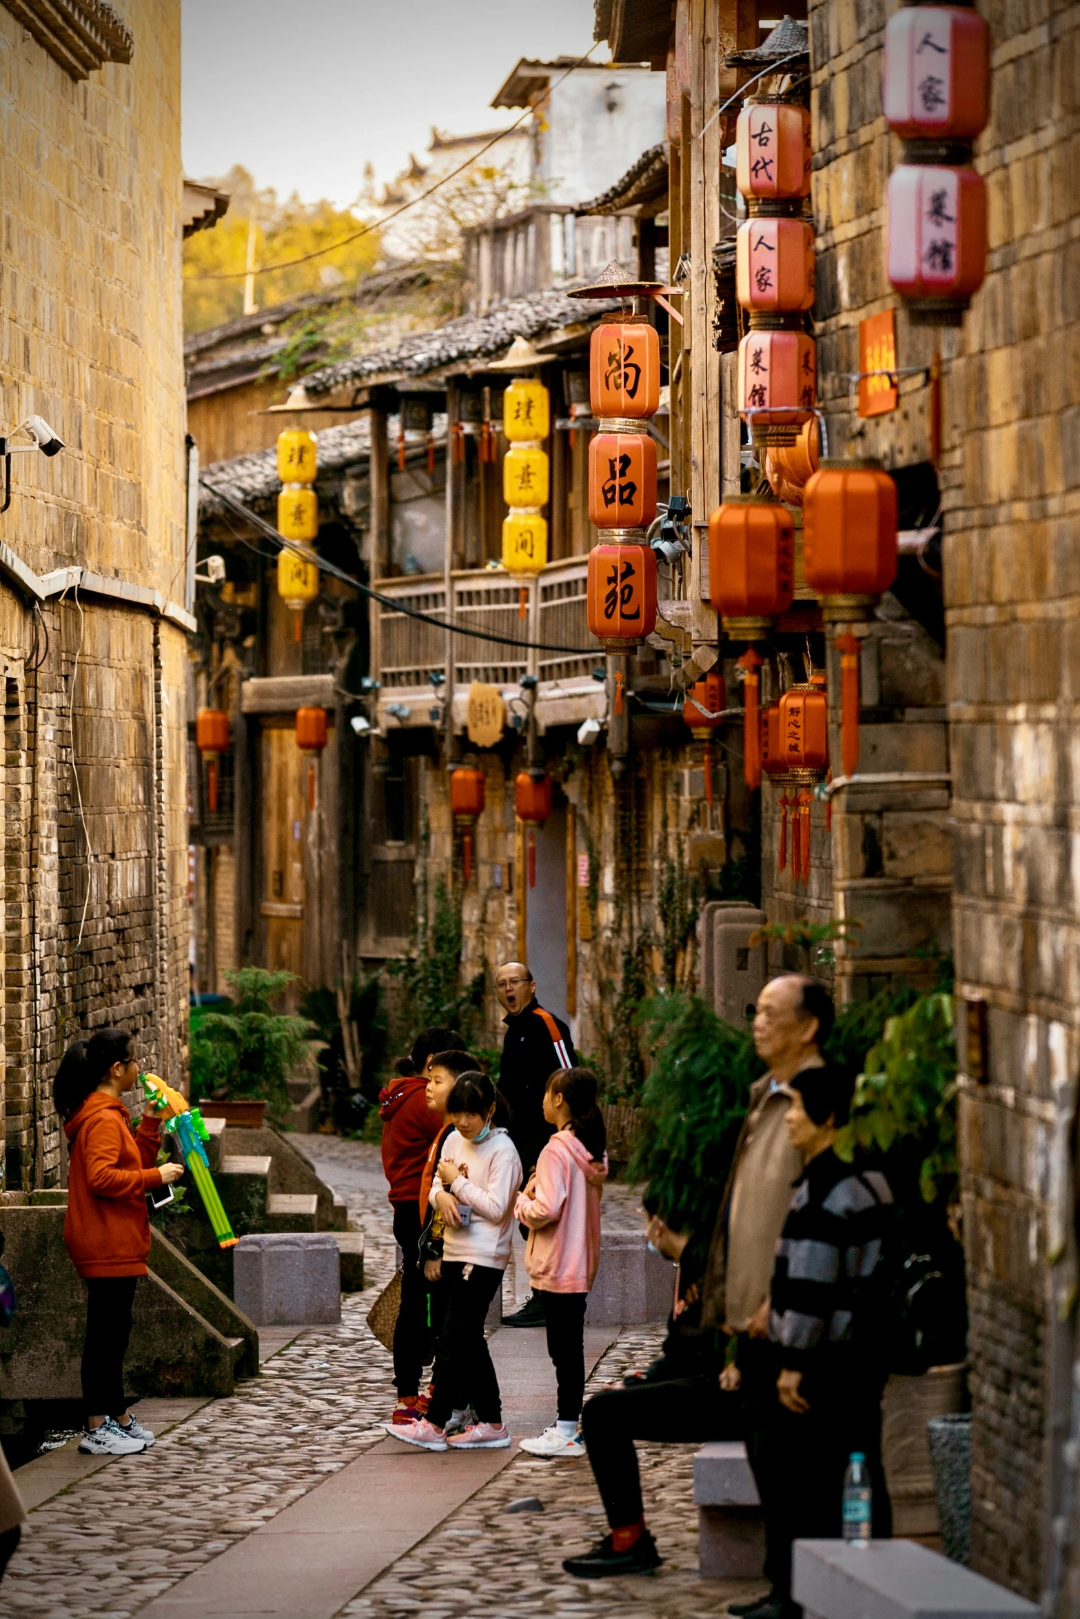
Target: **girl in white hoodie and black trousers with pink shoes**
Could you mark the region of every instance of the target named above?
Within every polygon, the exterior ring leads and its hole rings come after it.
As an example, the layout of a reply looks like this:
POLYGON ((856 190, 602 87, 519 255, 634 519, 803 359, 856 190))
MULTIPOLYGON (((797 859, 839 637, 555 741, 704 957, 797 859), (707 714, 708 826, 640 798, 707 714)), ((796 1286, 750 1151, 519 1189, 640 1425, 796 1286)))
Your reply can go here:
POLYGON ((497 1451, 510 1444, 502 1421, 499 1379, 484 1337, 487 1307, 502 1287, 510 1258, 513 1200, 521 1159, 502 1125, 500 1103, 486 1073, 463 1073, 447 1099, 453 1124, 431 1187, 442 1230, 445 1321, 439 1334, 434 1386, 426 1418, 387 1423, 387 1431, 423 1451, 497 1451), (474 1421, 447 1434, 452 1413, 471 1409, 474 1421))

